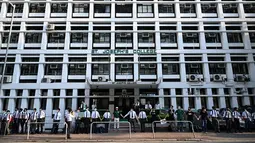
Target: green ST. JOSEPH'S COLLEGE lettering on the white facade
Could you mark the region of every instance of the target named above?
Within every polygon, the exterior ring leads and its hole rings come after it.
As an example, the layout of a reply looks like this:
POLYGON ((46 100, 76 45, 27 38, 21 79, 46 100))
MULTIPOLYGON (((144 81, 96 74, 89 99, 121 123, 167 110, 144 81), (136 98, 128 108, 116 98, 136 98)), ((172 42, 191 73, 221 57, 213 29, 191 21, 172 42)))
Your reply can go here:
POLYGON ((156 54, 156 50, 154 49, 142 49, 142 50, 92 50, 92 54, 143 54, 143 55, 152 55, 156 54))

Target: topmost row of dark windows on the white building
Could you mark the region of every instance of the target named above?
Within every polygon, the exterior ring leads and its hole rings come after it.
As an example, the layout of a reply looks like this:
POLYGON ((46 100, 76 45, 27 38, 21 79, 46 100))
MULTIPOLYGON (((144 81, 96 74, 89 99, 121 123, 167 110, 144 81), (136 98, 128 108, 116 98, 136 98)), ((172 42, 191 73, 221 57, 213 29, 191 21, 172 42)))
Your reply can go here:
MULTIPOLYGON (((201 10, 202 13, 217 13, 217 4, 202 4, 201 10)), ((223 4, 222 6, 224 13, 238 13, 238 4, 223 4)), ((153 13, 154 6, 149 4, 138 4, 137 12, 138 13, 153 13)), ((159 4, 158 6, 159 13, 174 13, 175 6, 174 4, 159 4)), ((94 6, 95 13, 110 13, 111 5, 109 4, 95 4, 94 6)), ((255 13, 255 4, 244 4, 245 13, 255 13)), ((8 12, 12 12, 12 7, 8 7, 8 12)), ((16 4, 16 13, 23 12, 23 4, 16 4)), ((45 13, 45 4, 43 3, 33 3, 29 7, 30 13, 45 13)), ((51 4, 52 13, 66 13, 67 4, 51 4)), ((88 13, 89 5, 88 4, 73 4, 73 13, 88 13)), ((180 4, 181 13, 196 13, 195 4, 180 4)), ((116 13, 132 13, 132 4, 117 4, 116 13)))

